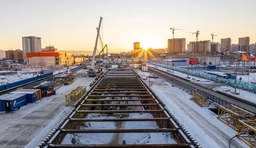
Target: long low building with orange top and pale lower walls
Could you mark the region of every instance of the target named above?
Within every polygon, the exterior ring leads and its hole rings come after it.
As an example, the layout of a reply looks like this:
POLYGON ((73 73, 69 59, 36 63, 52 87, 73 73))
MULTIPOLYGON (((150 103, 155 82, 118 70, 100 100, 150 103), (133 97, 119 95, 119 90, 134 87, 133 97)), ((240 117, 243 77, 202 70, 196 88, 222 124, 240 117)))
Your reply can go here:
POLYGON ((74 58, 71 53, 60 53, 57 50, 43 50, 42 53, 26 53, 28 65, 65 65, 71 66, 74 58))

